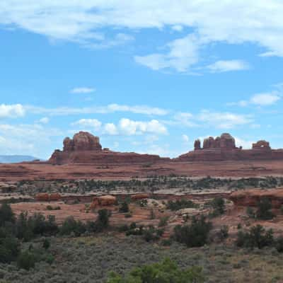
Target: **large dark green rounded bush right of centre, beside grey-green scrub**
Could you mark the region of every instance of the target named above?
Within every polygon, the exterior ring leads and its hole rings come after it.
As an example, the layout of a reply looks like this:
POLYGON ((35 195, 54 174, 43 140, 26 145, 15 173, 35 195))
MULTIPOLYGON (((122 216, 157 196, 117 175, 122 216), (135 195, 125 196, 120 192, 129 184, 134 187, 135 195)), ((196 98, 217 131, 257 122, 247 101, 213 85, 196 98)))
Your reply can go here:
POLYGON ((207 222, 204 216, 201 216, 200 219, 193 217, 190 226, 175 226, 173 238, 189 248, 201 247, 207 243, 211 229, 212 223, 207 222))

